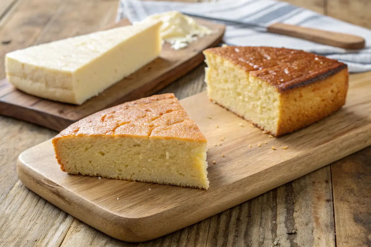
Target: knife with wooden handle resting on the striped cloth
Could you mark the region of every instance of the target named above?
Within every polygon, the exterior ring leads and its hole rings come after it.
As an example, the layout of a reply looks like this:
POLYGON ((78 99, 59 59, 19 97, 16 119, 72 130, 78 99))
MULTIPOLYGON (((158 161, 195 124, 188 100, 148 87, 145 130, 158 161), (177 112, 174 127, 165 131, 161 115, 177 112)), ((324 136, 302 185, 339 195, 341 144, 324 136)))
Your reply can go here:
POLYGON ((258 28, 259 31, 267 31, 269 33, 282 34, 290 37, 296 37, 300 39, 313 41, 315 43, 326 44, 328 46, 335 46, 344 49, 362 49, 365 47, 364 38, 352 34, 337 33, 332 31, 325 31, 283 23, 274 23, 269 26, 265 26, 259 23, 247 23, 242 21, 200 16, 197 14, 191 14, 183 11, 182 13, 186 14, 187 16, 197 17, 206 20, 222 21, 224 23, 230 23, 234 25, 255 27, 258 28))

